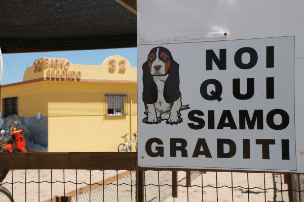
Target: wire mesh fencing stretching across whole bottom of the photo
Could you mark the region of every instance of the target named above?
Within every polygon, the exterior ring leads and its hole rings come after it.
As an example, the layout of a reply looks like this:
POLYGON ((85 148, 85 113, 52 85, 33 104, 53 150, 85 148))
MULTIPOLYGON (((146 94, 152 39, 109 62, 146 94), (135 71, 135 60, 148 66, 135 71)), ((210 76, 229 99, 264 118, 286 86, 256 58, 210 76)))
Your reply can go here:
POLYGON ((2 186, 19 202, 51 202, 55 196, 70 196, 72 201, 80 202, 128 202, 136 201, 139 193, 145 202, 172 202, 175 194, 178 197, 175 201, 303 201, 302 175, 230 172, 202 175, 197 171, 191 171, 191 177, 188 174, 185 171, 13 170, 2 186), (136 178, 143 180, 142 189, 138 189, 141 185, 136 178), (192 182, 186 186, 189 178, 192 182), (177 187, 173 188, 172 182, 176 180, 177 187), (172 194, 173 190, 177 192, 172 194))

